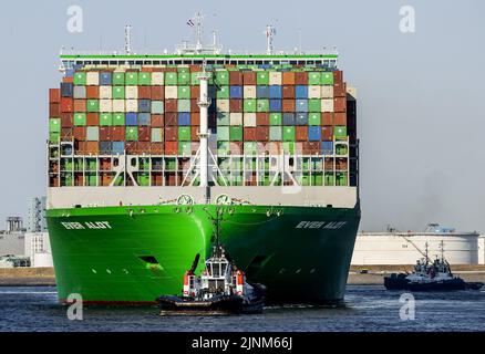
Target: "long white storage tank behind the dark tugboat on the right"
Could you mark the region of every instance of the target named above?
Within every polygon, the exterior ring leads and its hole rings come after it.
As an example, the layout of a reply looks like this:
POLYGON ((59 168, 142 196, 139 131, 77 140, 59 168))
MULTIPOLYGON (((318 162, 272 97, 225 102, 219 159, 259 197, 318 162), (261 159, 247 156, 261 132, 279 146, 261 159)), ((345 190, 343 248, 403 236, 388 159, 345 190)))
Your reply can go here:
POLYGON ((430 225, 424 232, 359 232, 352 257, 354 266, 414 264, 423 258, 427 243, 431 260, 444 257, 451 264, 478 264, 479 235, 456 232, 454 229, 430 225))

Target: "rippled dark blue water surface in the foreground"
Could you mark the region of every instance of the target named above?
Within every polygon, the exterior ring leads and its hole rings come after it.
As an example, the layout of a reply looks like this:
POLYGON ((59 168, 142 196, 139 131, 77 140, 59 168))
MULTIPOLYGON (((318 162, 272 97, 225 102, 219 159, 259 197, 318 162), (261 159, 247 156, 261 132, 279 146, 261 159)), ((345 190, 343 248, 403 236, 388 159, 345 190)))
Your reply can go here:
POLYGON ((400 292, 349 285, 339 308, 278 306, 259 315, 159 316, 155 306, 85 308, 70 321, 55 288, 0 288, 0 331, 485 331, 485 292, 416 293, 402 321, 400 292))

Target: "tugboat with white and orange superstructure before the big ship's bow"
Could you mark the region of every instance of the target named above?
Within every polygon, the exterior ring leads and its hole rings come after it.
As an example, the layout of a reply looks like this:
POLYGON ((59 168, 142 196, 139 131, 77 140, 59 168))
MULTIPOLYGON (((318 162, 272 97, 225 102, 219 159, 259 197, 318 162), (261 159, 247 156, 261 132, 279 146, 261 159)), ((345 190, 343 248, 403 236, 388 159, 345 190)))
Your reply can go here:
POLYGON ((183 295, 161 295, 157 299, 161 315, 262 312, 266 287, 246 282, 245 273, 237 269, 219 243, 218 220, 216 222, 216 246, 204 271, 200 277, 194 273, 200 258, 197 253, 184 274, 183 295))

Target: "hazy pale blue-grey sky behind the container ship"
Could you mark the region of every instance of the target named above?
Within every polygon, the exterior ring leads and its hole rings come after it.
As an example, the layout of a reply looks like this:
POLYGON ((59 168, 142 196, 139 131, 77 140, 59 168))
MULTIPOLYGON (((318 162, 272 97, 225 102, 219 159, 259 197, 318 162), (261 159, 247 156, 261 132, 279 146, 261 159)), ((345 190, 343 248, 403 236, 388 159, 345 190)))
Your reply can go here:
MULTIPOLYGON (((59 84, 59 50, 172 50, 200 9, 206 34, 225 49, 264 51, 337 45, 359 92, 363 230, 430 221, 485 231, 485 2, 468 1, 9 1, 0 12, 0 222, 45 194, 48 88, 59 84), (291 3, 291 4, 290 4, 291 3), (81 6, 84 31, 66 29, 81 6), (238 6, 236 6, 238 4, 238 6), (400 8, 415 32, 400 31, 400 8)), ((1 228, 1 227, 0 227, 1 228)))

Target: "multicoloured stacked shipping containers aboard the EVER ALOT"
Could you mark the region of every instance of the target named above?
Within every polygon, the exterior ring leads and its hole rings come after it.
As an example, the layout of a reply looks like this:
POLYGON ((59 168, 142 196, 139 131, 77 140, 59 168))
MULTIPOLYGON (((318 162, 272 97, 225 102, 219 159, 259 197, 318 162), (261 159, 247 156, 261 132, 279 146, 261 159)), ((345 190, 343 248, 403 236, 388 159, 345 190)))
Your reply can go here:
MULTIPOLYGON (((179 185, 199 146, 200 70, 132 65, 80 67, 66 75, 60 88, 50 91, 50 185, 130 185, 124 175, 114 180, 116 156, 124 154, 141 155, 134 163, 137 185, 179 185)), ((302 185, 349 184, 341 71, 289 64, 206 70, 213 73, 209 127, 230 185, 286 183, 268 173, 265 157, 281 152, 308 156, 295 162, 302 185), (245 174, 238 168, 242 165, 261 166, 245 174)))

